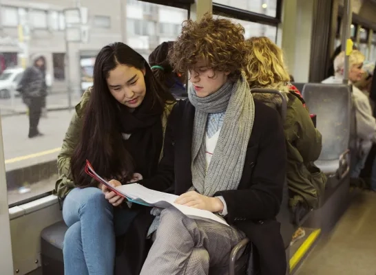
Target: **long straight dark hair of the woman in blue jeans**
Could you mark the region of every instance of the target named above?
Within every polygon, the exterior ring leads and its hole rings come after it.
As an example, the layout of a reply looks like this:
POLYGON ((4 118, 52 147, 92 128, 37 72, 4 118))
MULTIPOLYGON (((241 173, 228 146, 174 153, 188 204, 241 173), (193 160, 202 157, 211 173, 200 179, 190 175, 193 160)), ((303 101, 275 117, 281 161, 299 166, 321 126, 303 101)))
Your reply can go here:
POLYGON ((103 47, 96 56, 94 84, 85 108, 82 134, 70 162, 76 186, 96 186, 85 173, 86 159, 101 177, 119 181, 132 179, 132 156, 125 148, 116 116, 121 103, 112 96, 107 87, 109 72, 120 64, 145 69, 146 92, 152 94, 153 104, 165 107, 167 101, 174 100, 174 97, 160 86, 145 58, 131 47, 121 42, 103 47))

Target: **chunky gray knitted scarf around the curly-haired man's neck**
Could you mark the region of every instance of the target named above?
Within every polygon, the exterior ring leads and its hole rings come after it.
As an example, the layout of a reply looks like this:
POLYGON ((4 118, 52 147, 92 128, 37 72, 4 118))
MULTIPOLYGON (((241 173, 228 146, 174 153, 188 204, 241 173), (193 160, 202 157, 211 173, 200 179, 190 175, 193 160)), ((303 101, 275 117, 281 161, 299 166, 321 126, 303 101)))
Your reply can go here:
POLYGON ((192 138, 192 183, 200 194, 212 197, 220 190, 236 190, 244 168, 247 145, 255 118, 255 105, 242 75, 236 83, 227 82, 216 93, 199 98, 188 91, 196 107, 192 138), (226 111, 213 157, 206 170, 205 128, 209 113, 226 111))

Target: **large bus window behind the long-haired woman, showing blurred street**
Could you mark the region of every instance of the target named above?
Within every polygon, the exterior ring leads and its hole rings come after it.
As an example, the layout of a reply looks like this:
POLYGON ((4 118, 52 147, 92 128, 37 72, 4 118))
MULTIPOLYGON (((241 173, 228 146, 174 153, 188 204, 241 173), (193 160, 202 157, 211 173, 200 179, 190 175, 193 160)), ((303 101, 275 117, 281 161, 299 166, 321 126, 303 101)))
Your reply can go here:
POLYGON ((65 24, 63 10, 74 7, 72 1, 28 0, 18 1, 17 7, 1 6, 0 114, 10 204, 35 199, 54 189, 56 158, 74 106, 93 83, 99 50, 124 38, 147 60, 161 42, 176 39, 188 15, 187 10, 137 0, 124 0, 123 5, 121 1, 81 2, 89 14, 87 43, 65 41, 65 31, 73 26, 65 24), (122 8, 125 14, 121 14, 122 8), (23 43, 18 25, 23 26, 23 43), (44 135, 29 138, 30 111, 16 87, 37 56, 44 56, 46 61, 48 95, 42 104, 48 111, 43 111, 38 126, 44 135))

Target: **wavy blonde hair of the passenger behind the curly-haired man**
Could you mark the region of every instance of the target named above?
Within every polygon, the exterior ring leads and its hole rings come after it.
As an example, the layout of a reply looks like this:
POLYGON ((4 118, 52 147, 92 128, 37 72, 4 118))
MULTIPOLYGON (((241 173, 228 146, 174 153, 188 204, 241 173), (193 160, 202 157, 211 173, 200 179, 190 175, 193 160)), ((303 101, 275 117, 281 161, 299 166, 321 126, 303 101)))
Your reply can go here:
POLYGON ((249 50, 245 74, 251 88, 278 88, 290 82, 280 47, 265 36, 246 41, 249 50))

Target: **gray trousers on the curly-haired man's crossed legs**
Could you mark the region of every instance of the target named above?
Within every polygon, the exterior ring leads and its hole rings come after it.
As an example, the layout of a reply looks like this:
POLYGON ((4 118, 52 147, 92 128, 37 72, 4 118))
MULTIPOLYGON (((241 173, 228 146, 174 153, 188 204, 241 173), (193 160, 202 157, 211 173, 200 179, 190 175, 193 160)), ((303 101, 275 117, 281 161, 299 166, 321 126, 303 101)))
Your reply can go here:
POLYGON ((166 208, 140 275, 208 275, 209 267, 210 274, 229 274, 229 254, 244 236, 236 228, 166 208))

